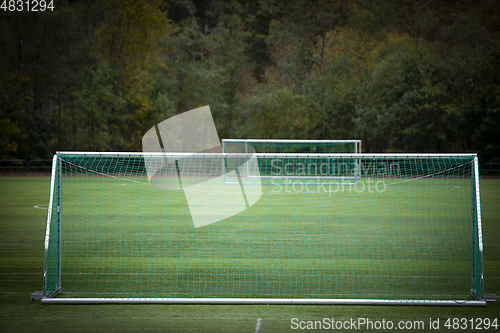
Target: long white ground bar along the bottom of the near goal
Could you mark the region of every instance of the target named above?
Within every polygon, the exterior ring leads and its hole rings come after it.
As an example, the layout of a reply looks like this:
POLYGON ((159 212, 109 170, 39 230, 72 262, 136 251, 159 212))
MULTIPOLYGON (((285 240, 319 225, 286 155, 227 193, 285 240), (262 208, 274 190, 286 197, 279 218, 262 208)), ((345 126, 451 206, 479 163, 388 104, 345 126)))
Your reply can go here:
POLYGON ((42 304, 284 304, 486 306, 486 301, 280 298, 42 298, 42 304))

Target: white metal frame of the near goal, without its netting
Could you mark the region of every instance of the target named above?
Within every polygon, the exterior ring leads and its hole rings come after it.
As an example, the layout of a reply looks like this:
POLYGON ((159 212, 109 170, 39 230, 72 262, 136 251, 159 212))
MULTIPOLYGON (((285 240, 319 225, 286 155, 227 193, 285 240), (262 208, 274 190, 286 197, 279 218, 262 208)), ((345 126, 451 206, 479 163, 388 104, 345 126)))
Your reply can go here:
MULTIPOLYGON (((481 220, 481 203, 480 203, 480 185, 479 185, 479 163, 477 154, 286 154, 286 153, 256 153, 256 157, 332 157, 332 158, 439 158, 439 157, 473 157, 472 169, 474 174, 471 186, 471 259, 474 256, 479 257, 479 267, 475 266, 474 260, 471 260, 471 295, 475 300, 422 300, 422 299, 297 299, 297 298, 71 298, 71 297, 56 297, 62 290, 62 225, 63 216, 61 212, 61 193, 63 190, 61 172, 61 160, 58 155, 86 155, 89 157, 132 157, 132 156, 187 156, 187 155, 220 155, 220 154, 186 154, 186 153, 138 153, 138 152, 57 152, 52 159, 52 172, 50 182, 50 201, 47 215, 47 226, 44 243, 44 281, 43 281, 43 296, 37 299, 41 300, 42 304, 330 304, 330 305, 431 305, 431 306, 486 306, 487 302, 484 297, 484 264, 483 264, 483 239, 482 239, 482 220, 481 220), (56 184, 57 177, 57 184, 56 184), (53 204, 57 205, 57 208, 53 204), (51 223, 53 212, 57 215, 57 237, 50 239, 51 223), (477 240, 476 240, 477 238, 477 240), (56 242, 59 251, 57 263, 57 288, 47 294, 47 278, 48 278, 48 255, 51 242, 56 242), (477 244, 476 244, 477 242, 477 244), (475 249, 478 253, 475 253, 475 249), (475 277, 474 272, 478 272, 479 276, 475 277), (479 290, 478 290, 479 289, 479 290)), ((352 184, 354 185, 354 184, 352 184)), ((34 294, 39 293, 35 292, 34 294)), ((33 297, 33 296, 32 296, 33 297)))

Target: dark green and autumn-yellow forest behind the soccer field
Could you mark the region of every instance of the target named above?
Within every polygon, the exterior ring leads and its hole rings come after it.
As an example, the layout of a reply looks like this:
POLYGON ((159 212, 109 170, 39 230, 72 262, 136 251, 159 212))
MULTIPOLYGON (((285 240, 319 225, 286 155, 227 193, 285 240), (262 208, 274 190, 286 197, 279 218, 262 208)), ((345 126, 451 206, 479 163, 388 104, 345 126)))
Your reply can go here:
POLYGON ((221 138, 500 157, 495 0, 70 0, 0 14, 0 157, 140 151, 210 105, 221 138))

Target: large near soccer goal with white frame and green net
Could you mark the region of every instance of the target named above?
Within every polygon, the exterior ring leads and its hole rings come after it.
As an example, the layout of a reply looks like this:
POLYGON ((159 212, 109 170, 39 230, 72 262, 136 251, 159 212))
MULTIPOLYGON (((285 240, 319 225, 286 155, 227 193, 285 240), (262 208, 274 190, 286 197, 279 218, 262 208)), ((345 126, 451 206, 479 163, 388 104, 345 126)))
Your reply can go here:
POLYGON ((42 303, 486 304, 475 154, 252 156, 360 179, 211 183, 248 155, 58 152, 42 303))

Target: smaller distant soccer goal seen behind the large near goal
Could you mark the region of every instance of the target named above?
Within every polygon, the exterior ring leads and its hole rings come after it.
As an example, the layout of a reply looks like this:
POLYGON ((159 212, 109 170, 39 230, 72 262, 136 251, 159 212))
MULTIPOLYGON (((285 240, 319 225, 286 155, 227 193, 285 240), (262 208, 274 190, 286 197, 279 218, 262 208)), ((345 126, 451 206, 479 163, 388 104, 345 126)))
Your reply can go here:
MULTIPOLYGON (((361 140, 265 140, 265 139, 223 139, 224 154, 360 154, 361 140)), ((285 164, 274 164, 272 168, 261 168, 253 172, 249 166, 242 169, 240 178, 225 176, 224 181, 261 182, 271 184, 333 183, 344 185, 356 183, 360 178, 360 164, 356 159, 344 159, 342 164, 332 164, 328 160, 294 159, 285 164), (352 167, 354 166, 354 167, 352 167), (264 171, 264 172, 262 172, 264 171)))

